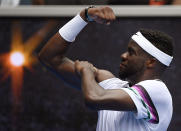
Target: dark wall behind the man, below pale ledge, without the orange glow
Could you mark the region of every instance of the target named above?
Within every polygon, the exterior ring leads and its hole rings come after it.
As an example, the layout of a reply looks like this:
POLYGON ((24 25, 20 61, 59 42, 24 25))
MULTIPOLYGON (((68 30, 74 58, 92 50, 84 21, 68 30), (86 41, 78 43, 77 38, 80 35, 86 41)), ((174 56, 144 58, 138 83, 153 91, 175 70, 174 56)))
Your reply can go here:
MULTIPOLYGON (((59 25, 42 41, 34 52, 35 56, 50 36, 70 18, 55 19, 59 21, 59 25)), ((10 50, 11 26, 14 20, 21 23, 25 41, 43 27, 48 18, 0 18, 1 54, 10 50)), ((120 55, 126 51, 131 35, 140 28, 161 30, 175 39, 174 60, 172 66, 165 72, 163 80, 168 85, 174 104, 169 131, 179 131, 181 18, 118 18, 110 26, 91 23, 80 33, 67 55, 73 60, 88 60, 98 68, 110 70, 117 76, 120 55)), ((1 73, 0 77, 2 76, 1 73)), ((25 69, 22 104, 16 114, 12 113, 12 99, 10 79, 7 79, 0 83, 0 131, 94 131, 96 129, 97 113, 84 106, 81 92, 64 85, 39 62, 33 66, 33 72, 25 69), (13 120, 14 115, 16 120, 13 120)))

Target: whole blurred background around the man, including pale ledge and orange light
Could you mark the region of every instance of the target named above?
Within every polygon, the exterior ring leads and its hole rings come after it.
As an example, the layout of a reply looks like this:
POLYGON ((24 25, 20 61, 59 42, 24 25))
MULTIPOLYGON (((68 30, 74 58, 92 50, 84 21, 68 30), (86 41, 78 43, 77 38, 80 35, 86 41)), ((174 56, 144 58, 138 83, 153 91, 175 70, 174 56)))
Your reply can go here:
MULTIPOLYGON (((47 40, 88 5, 108 5, 117 20, 91 23, 67 56, 88 60, 118 76, 120 55, 140 28, 161 30, 175 40, 174 60, 163 76, 173 97, 168 131, 181 129, 181 0, 0 0, 0 131, 95 131, 97 112, 85 107, 38 60, 47 40)), ((161 97, 161 96, 160 96, 161 97)))

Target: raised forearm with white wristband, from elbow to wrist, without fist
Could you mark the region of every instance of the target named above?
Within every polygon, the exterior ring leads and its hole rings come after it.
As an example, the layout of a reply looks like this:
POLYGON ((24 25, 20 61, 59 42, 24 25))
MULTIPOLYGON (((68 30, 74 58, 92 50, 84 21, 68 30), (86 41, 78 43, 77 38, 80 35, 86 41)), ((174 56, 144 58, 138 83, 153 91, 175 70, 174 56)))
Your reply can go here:
MULTIPOLYGON (((50 62, 62 60, 71 42, 74 42, 79 32, 87 25, 84 21, 84 10, 65 24, 45 45, 40 52, 40 59, 50 62)), ((57 63, 57 62, 55 62, 57 63)), ((60 61, 58 61, 60 63, 60 61)))

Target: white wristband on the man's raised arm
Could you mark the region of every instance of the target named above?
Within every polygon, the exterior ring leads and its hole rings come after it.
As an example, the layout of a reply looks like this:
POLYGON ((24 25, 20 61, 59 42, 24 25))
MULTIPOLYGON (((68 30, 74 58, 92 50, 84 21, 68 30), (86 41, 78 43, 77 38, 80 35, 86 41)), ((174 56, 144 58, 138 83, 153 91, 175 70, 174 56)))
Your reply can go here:
POLYGON ((87 25, 80 15, 76 15, 72 20, 65 24, 60 30, 60 35, 68 42, 73 42, 80 31, 87 25))

